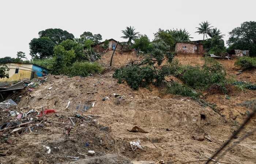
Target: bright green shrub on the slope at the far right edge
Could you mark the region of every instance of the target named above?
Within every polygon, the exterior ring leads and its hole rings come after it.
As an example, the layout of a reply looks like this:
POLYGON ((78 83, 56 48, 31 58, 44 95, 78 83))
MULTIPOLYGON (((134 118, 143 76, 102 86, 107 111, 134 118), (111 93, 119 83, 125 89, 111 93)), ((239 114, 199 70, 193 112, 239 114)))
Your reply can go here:
POLYGON ((241 69, 256 68, 256 58, 243 56, 239 58, 234 65, 241 69))

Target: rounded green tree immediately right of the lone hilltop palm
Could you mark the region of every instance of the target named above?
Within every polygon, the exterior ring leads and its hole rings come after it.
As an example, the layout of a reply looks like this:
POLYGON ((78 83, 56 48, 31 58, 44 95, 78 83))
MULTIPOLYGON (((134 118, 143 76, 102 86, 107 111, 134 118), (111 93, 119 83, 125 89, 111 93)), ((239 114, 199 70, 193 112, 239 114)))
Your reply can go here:
POLYGON ((139 38, 134 39, 133 47, 137 49, 138 52, 147 52, 149 48, 150 40, 147 35, 139 35, 139 38))

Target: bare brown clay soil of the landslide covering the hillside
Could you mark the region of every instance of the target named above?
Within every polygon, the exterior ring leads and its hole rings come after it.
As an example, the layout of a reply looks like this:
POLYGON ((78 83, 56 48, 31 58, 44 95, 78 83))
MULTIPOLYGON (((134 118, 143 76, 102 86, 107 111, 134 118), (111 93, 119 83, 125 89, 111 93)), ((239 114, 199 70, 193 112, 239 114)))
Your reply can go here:
MULTIPOLYGON (((112 52, 102 56, 100 62, 108 66, 112 52)), ((124 66, 130 59, 139 59, 135 54, 116 52, 114 67, 124 66)), ((201 65, 202 56, 177 55, 182 64, 201 65)), ((234 60, 219 60, 229 75, 235 75, 234 60)), ((246 111, 251 109, 239 106, 240 102, 255 98, 256 91, 236 91, 230 99, 214 94, 206 101, 217 104, 221 115, 211 108, 203 108, 187 97, 166 95, 158 88, 140 88, 132 90, 125 83, 118 84, 109 70, 102 75, 92 77, 72 77, 49 75, 45 83, 34 89, 29 96, 22 97, 20 107, 27 110, 37 108, 54 109, 56 113, 47 115, 47 120, 72 124, 69 117, 74 117, 75 128, 69 136, 65 129, 69 125, 46 123, 46 127, 35 126, 32 132, 13 134, 12 144, 1 142, 0 163, 165 163, 181 164, 198 160, 204 153, 213 155, 246 118, 246 111), (52 89, 48 90, 49 87, 52 89), (113 93, 117 97, 109 96, 113 93), (121 96, 121 97, 120 97, 121 96), (106 97, 109 97, 106 98, 106 97), (106 98, 105 101, 102 99, 106 98), (70 105, 65 109, 68 101, 70 105), (84 111, 80 107, 95 102, 93 108, 84 111), (78 118, 86 116, 84 118, 78 118), (83 115, 84 114, 84 115, 83 115), (93 116, 92 116, 93 115, 93 116), (129 132, 138 126, 148 133, 129 132), (207 139, 208 138, 208 139, 207 139), (131 150, 130 141, 140 140, 143 150, 131 150), (89 146, 85 147, 86 142, 89 146), (51 152, 48 154, 48 146, 51 152), (88 150, 95 151, 93 157, 87 156, 88 150), (79 160, 67 156, 79 157, 79 160)), ((248 70, 236 79, 256 81, 256 71, 248 70)), ((256 118, 246 126, 240 137, 247 130, 254 129, 256 118)), ((248 136, 232 148, 220 160, 231 164, 256 163, 256 137, 248 136)), ((201 160, 207 160, 202 157, 201 160)), ((203 163, 203 162, 199 162, 203 163)))

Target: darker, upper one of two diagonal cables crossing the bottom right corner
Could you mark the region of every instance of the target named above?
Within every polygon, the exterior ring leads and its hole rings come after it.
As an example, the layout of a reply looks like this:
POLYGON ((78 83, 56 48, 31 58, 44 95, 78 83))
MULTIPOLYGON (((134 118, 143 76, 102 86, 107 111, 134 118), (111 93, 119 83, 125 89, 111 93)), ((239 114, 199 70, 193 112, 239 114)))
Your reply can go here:
MULTIPOLYGON (((242 123, 242 125, 237 129, 237 131, 235 133, 233 133, 232 136, 229 137, 229 139, 225 142, 225 144, 211 157, 211 159, 214 159, 214 157, 216 157, 221 151, 222 149, 224 149, 229 142, 235 137, 237 136, 237 134, 240 133, 240 131, 242 130, 242 128, 244 128, 244 126, 251 120, 251 118, 254 116, 254 114, 256 113, 256 109, 253 110, 252 113, 249 114, 249 116, 245 119, 245 121, 242 123)), ((211 160, 208 160, 205 164, 208 164, 211 160)))

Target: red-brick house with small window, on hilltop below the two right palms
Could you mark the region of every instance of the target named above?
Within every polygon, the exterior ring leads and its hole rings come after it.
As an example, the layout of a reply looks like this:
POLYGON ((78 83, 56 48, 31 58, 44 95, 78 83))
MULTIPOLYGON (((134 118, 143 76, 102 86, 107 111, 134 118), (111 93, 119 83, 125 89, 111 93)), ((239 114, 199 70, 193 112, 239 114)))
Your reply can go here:
POLYGON ((176 54, 203 54, 203 44, 198 41, 176 43, 175 45, 176 54))

